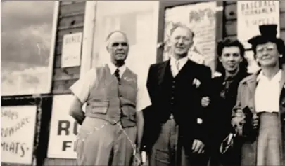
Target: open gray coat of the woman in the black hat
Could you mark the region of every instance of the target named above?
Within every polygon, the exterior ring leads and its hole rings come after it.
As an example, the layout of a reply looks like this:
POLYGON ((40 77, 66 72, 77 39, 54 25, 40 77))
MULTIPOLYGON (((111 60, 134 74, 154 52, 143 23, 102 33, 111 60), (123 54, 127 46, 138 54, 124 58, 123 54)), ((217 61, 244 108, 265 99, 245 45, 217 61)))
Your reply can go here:
MULTIPOLYGON (((233 110, 243 109, 246 106, 255 113, 254 95, 257 85, 257 77, 260 71, 251 76, 248 76, 239 83, 239 92, 236 99, 236 106, 233 110)), ((280 118, 280 131, 281 131, 281 165, 285 165, 285 65, 282 68, 281 81, 280 81, 280 100, 279 100, 279 118, 280 118)), ((233 111, 234 115, 234 111, 233 111)), ((243 129, 250 130, 250 129, 243 129)), ((258 135, 257 135, 258 137, 258 135)), ((256 165, 257 156, 257 142, 256 137, 253 140, 244 140, 241 147, 241 165, 256 165)))

